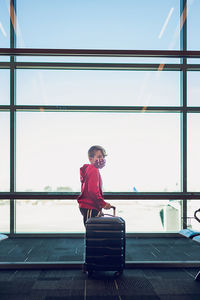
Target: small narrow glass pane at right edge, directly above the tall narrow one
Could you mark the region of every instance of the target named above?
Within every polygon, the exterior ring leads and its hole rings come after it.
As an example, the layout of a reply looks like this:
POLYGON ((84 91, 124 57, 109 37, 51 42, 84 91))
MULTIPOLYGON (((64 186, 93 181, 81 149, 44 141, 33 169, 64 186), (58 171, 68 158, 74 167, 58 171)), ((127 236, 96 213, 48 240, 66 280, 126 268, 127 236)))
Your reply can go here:
POLYGON ((200 106, 200 72, 187 73, 187 102, 189 106, 200 106))

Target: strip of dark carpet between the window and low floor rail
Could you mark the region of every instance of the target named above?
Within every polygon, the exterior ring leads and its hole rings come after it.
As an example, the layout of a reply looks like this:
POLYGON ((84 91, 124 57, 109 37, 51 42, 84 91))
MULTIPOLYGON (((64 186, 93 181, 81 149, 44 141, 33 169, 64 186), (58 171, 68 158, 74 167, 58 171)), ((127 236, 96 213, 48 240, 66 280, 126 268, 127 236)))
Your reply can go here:
MULTIPOLYGON (((8 238, 0 262, 83 261, 81 238, 8 238)), ((200 261, 200 243, 183 238, 127 238, 126 261, 200 261)))

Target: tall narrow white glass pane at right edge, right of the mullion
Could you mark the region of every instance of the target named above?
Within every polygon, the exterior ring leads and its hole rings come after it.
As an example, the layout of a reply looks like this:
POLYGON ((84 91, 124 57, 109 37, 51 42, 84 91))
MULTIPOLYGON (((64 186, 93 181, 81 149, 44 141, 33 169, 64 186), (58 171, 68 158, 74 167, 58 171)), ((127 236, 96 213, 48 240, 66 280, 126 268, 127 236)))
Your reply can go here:
POLYGON ((188 114, 188 191, 199 192, 200 114, 188 114))

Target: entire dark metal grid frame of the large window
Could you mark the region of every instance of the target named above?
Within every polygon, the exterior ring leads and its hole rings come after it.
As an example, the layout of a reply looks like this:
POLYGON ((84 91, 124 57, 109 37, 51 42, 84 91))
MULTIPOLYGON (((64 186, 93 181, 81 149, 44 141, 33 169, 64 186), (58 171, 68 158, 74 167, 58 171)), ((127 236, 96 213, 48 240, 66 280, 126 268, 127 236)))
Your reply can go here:
POLYGON ((180 193, 105 193, 105 199, 179 199, 183 200, 183 223, 187 225, 187 199, 200 199, 200 193, 189 193, 187 191, 187 114, 200 113, 200 107, 187 106, 187 72, 198 70, 200 64, 188 64, 188 58, 200 58, 200 51, 187 51, 187 0, 180 0, 180 20, 184 20, 180 30, 180 51, 169 50, 85 50, 85 49, 17 49, 15 36, 15 8, 16 1, 10 1, 10 48, 0 49, 0 55, 10 57, 9 62, 0 62, 1 69, 10 70, 10 105, 0 105, 1 111, 10 112, 10 192, 0 193, 0 199, 10 199, 10 235, 15 236, 15 199, 76 199, 77 193, 20 193, 15 192, 16 177, 16 112, 17 111, 135 111, 141 112, 144 107, 115 107, 115 106, 45 106, 45 105, 16 105, 16 69, 104 69, 104 70, 146 70, 146 71, 179 71, 181 105, 176 107, 145 107, 146 113, 150 112, 179 112, 181 114, 181 179, 182 191, 180 193), (53 63, 53 62, 16 62, 16 56, 99 56, 99 57, 177 57, 180 58, 179 64, 109 64, 109 63, 53 63))

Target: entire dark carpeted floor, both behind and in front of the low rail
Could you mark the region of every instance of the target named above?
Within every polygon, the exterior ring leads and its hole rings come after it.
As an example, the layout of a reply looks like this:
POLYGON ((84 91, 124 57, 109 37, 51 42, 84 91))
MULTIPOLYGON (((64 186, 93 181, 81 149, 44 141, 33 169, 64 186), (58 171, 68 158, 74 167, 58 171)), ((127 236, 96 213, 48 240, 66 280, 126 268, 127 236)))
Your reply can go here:
MULTIPOLYGON (((127 238, 127 261, 200 261, 200 244, 187 238, 127 238)), ((14 238, 0 242, 1 262, 83 261, 84 240, 14 238)), ((0 299, 7 300, 195 300, 200 299, 198 269, 125 269, 97 272, 88 279, 81 270, 0 270, 0 299)))

